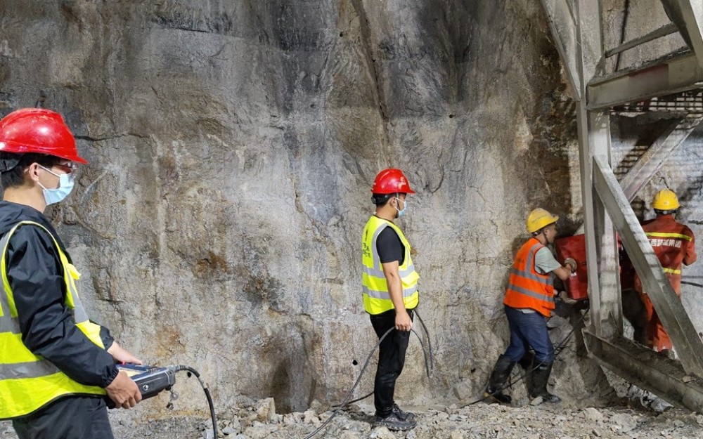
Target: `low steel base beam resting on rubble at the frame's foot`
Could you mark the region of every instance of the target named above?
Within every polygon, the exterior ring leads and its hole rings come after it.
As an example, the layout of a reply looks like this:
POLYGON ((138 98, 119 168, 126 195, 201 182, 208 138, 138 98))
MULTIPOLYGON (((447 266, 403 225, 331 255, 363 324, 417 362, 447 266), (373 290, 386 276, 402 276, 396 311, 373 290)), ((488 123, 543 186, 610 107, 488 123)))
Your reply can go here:
POLYGON ((687 407, 694 412, 703 407, 702 383, 687 376, 679 362, 657 355, 623 337, 607 341, 584 329, 583 341, 591 358, 628 382, 672 405, 687 407))

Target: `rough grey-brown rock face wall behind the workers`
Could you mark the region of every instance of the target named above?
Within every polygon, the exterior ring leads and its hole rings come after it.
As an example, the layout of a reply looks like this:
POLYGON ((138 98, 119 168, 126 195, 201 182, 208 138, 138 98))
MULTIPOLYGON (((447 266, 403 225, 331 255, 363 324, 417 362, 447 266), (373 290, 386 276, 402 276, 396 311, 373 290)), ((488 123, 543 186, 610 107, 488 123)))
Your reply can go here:
MULTIPOLYGON (((580 225, 574 103, 539 2, 0 5, 2 113, 44 91, 90 162, 49 214, 93 319, 148 362, 198 369, 217 405, 301 410, 351 388, 376 342, 359 241, 380 169, 418 192, 399 225, 435 355, 427 379, 413 338, 399 400, 472 400, 508 339, 527 212, 580 225)), ((555 321, 555 341, 576 325, 555 321)), ((602 400, 569 346, 555 391, 602 400)), ((372 386, 373 365, 355 395, 372 386)))

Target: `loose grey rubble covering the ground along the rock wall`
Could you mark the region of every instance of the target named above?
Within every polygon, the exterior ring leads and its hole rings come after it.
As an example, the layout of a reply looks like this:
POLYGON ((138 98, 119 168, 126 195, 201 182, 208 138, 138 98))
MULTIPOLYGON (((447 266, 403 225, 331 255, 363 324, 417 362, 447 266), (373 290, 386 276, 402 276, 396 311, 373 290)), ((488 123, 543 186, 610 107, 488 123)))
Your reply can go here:
MULTIPOLYGON (((248 402, 218 414, 219 437, 228 439, 303 439, 332 416, 318 405, 306 412, 277 414, 273 399, 248 402)), ((371 428, 373 405, 342 410, 314 438, 338 439, 693 439, 703 435, 703 414, 644 407, 569 409, 560 405, 505 407, 479 403, 414 409, 418 426, 408 432, 371 428)), ((113 421, 117 439, 212 439, 209 419, 175 415, 150 421, 113 421)), ((1 439, 15 439, 8 423, 0 424, 1 439)))

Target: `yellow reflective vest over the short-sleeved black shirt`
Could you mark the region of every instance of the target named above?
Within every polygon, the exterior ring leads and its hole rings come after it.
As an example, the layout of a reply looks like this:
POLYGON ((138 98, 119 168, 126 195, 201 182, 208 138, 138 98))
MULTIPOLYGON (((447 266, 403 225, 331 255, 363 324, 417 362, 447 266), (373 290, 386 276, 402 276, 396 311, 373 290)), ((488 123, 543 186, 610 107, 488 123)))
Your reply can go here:
POLYGON ((398 271, 403 286, 403 301, 405 308, 411 310, 418 306, 420 293, 418 292, 418 279, 420 275, 415 271, 413 258, 410 256, 410 243, 405 239, 403 232, 391 221, 371 216, 363 228, 361 236, 361 263, 363 264, 363 309, 367 313, 375 315, 385 313, 394 308, 391 296, 388 292, 388 284, 383 274, 381 260, 376 249, 378 235, 385 228, 392 228, 400 237, 400 241, 405 248, 405 257, 398 271))

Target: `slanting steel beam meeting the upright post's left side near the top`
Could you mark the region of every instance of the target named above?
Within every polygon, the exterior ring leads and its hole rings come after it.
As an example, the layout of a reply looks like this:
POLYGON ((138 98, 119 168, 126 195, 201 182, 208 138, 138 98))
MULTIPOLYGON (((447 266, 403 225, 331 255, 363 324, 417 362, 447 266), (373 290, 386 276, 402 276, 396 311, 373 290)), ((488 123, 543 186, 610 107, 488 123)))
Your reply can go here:
POLYGON ((574 100, 581 100, 581 91, 583 90, 583 79, 579 66, 577 64, 577 35, 576 22, 569 8, 569 5, 564 0, 541 0, 544 11, 547 13, 549 21, 549 29, 552 32, 552 39, 557 52, 559 53, 564 70, 567 72, 569 86, 574 92, 574 100))

